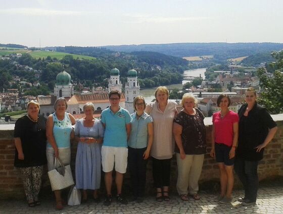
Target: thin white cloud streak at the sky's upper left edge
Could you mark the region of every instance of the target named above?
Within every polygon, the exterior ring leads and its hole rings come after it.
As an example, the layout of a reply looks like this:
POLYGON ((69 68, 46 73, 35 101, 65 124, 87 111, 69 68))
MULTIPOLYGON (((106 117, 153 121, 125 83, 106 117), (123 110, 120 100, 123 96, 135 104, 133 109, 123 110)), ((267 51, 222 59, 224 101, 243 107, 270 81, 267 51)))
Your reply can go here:
POLYGON ((86 12, 46 10, 41 8, 11 8, 11 9, 0 10, 0 13, 11 14, 11 15, 25 15, 25 16, 70 16, 70 15, 73 16, 73 15, 85 14, 86 12))

